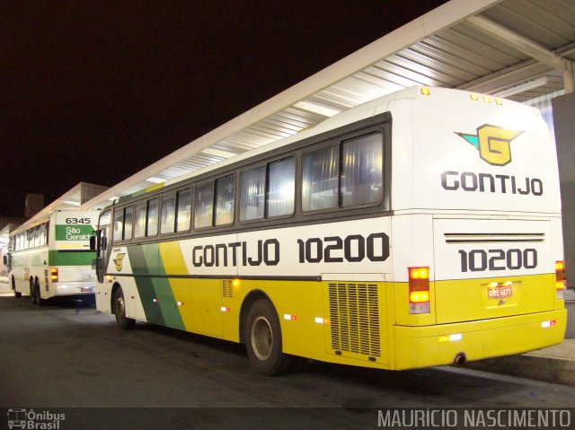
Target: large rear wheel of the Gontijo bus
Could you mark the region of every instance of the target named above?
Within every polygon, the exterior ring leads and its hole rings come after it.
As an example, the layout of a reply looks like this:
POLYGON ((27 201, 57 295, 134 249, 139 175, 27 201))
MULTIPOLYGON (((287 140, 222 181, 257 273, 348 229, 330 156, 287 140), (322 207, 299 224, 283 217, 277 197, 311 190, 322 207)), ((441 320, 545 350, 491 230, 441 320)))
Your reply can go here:
POLYGON ((286 373, 294 362, 292 355, 282 352, 279 318, 269 300, 252 304, 245 324, 245 344, 250 363, 260 373, 286 373))

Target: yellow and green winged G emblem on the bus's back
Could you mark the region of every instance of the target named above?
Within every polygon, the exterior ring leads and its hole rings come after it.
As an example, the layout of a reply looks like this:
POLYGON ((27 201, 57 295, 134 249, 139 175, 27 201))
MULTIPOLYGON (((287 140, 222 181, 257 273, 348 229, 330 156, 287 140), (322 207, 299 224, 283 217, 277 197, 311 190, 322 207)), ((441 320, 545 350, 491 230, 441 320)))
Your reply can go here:
POLYGON ((511 141, 522 134, 523 131, 508 130, 506 128, 483 124, 477 127, 476 135, 457 133, 468 143, 479 150, 483 161, 494 166, 504 166, 511 162, 511 141))

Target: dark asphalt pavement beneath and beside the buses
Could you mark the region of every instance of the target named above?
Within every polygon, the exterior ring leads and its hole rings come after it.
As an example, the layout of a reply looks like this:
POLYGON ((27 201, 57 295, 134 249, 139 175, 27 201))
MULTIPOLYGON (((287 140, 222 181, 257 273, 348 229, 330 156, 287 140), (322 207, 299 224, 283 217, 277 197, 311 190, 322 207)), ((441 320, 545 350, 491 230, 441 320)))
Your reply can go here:
MULTIPOLYGON (((121 331, 93 307, 39 308, 0 296, 0 408, 196 408, 128 409, 125 426, 115 412, 116 428, 158 426, 155 417, 164 426, 166 414, 173 421, 164 428, 243 428, 224 426, 227 415, 258 423, 244 428, 279 428, 279 419, 281 428, 373 428, 374 408, 440 407, 572 408, 575 388, 468 369, 394 373, 322 363, 269 378, 252 371, 240 345, 147 324, 121 331)), ((84 428, 105 427, 105 418, 93 419, 84 428)))

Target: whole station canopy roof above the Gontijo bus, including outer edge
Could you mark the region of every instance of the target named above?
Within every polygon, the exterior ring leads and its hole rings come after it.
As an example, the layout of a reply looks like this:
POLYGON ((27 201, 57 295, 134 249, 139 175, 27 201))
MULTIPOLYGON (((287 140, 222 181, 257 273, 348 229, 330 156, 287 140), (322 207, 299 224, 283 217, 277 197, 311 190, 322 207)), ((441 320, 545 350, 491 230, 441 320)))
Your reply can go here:
POLYGON ((84 203, 171 182, 413 85, 514 101, 572 92, 575 1, 452 0, 181 147, 84 203))

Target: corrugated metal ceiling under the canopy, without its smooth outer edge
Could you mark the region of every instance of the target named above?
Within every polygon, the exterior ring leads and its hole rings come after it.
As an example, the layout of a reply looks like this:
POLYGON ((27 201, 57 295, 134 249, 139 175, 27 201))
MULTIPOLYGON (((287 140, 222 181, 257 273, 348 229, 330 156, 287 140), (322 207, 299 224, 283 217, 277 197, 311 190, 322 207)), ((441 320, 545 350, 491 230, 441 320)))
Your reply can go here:
MULTIPOLYGON (((535 42, 552 55, 575 61, 575 0, 483 1, 488 6, 470 15, 478 16, 480 23, 495 24, 535 42)), ((441 8, 446 6, 448 10, 449 6, 455 9, 463 5, 464 2, 453 0, 441 8)), ((404 27, 406 32, 410 30, 409 24, 404 27)), ((517 44, 502 42, 482 30, 477 20, 454 18, 454 22, 412 42, 407 48, 380 57, 338 82, 327 83, 320 91, 257 118, 248 127, 230 130, 223 138, 207 137, 206 145, 196 146, 190 154, 183 151, 176 160, 166 157, 166 162, 156 163, 157 170, 149 174, 152 180, 134 175, 131 182, 125 180, 114 188, 113 197, 131 194, 160 180, 172 180, 234 154, 292 136, 337 112, 412 85, 459 88, 528 101, 561 91, 563 84, 562 70, 535 60, 517 44)), ((147 173, 150 171, 146 176, 147 173)), ((88 205, 105 206, 112 197, 108 194, 110 196, 102 195, 105 199, 94 199, 88 205)))

